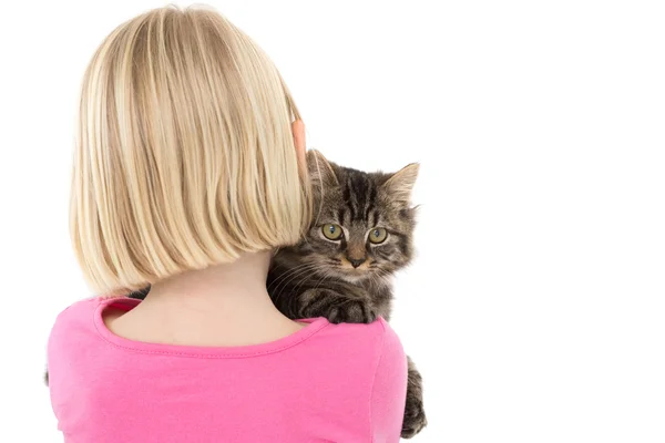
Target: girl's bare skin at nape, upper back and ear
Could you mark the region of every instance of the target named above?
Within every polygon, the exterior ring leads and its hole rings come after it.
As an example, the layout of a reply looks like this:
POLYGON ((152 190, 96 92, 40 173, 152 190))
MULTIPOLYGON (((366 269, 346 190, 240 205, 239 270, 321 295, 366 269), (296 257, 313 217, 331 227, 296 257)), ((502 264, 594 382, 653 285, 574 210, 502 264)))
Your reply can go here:
MULTIPOLYGON (((305 125, 296 121, 291 131, 304 165, 305 125)), ((231 264, 161 280, 131 311, 108 310, 104 322, 120 337, 145 342, 224 347, 278 340, 304 324, 279 312, 268 296, 270 257, 246 253, 231 264)))

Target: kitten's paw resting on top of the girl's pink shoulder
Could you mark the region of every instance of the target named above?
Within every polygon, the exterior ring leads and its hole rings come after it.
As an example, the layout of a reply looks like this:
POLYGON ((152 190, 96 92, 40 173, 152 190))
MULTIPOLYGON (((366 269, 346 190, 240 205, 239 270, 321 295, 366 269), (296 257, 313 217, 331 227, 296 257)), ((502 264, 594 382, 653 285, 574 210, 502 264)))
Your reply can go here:
POLYGON ((325 317, 331 323, 371 323, 377 311, 369 298, 331 289, 307 289, 299 296, 301 318, 325 317))

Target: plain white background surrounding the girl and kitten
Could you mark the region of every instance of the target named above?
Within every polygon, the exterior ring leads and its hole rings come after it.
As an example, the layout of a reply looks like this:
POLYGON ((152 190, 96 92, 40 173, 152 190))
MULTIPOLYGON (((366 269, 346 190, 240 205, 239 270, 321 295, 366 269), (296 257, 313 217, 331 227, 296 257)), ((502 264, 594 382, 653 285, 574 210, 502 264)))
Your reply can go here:
MULTIPOLYGON (((78 87, 155 1, 0 10, 0 441, 59 442, 44 347, 70 249, 78 87)), ((415 442, 665 442, 665 13, 657 1, 211 0, 272 55, 308 145, 419 161, 393 328, 415 442)))

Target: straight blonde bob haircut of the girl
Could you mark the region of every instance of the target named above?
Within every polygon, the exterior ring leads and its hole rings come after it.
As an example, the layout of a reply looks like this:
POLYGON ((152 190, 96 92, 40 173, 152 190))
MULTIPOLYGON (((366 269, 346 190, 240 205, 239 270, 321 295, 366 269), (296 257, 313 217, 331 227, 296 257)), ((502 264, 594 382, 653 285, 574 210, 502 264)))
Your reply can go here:
POLYGON ((80 106, 70 230, 95 291, 290 245, 306 228, 300 115, 268 56, 213 10, 160 8, 117 27, 80 106))

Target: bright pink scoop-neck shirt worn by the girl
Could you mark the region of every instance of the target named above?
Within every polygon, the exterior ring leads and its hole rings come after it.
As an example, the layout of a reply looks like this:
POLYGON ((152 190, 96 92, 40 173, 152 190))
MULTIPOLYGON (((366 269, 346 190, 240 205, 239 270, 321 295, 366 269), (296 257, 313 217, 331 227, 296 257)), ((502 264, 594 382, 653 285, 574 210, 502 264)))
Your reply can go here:
POLYGON ((382 319, 331 324, 246 347, 133 341, 93 298, 58 317, 48 348, 51 402, 68 443, 398 442, 407 360, 382 319))

